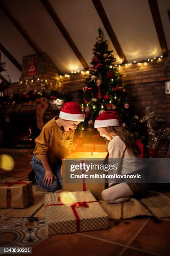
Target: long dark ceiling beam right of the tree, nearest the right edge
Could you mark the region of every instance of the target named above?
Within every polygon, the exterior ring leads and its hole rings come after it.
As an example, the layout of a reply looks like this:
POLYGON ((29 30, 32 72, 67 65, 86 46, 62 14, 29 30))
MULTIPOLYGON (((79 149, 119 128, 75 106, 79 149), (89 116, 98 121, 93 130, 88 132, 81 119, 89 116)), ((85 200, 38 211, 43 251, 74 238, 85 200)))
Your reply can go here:
POLYGON ((161 48, 162 54, 163 54, 163 56, 167 56, 168 55, 168 47, 167 47, 166 38, 165 38, 164 30, 163 30, 163 24, 162 24, 162 21, 160 18, 160 12, 159 12, 159 8, 158 8, 157 0, 148 0, 148 3, 150 6, 150 11, 153 16, 153 21, 155 24, 155 28, 156 28, 156 32, 157 32, 157 36, 158 36, 158 40, 160 43, 160 48, 161 48))

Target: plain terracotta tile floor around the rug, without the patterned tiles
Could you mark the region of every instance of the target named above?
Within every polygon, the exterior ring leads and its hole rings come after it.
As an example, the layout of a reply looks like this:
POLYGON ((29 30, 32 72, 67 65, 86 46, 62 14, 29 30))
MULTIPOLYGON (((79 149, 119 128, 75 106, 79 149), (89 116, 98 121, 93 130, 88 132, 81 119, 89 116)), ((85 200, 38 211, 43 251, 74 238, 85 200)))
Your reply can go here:
MULTIPOLYGON (((12 172, 2 173, 2 177, 27 179, 31 157, 15 158, 12 172)), ((162 186, 164 187, 164 186, 162 186)), ((170 190, 159 189, 170 197, 170 190)), ((47 255, 113 255, 149 256, 170 255, 170 218, 162 223, 154 223, 149 218, 130 219, 129 224, 116 225, 110 220, 110 229, 83 233, 50 236, 32 248, 32 256, 47 255)))

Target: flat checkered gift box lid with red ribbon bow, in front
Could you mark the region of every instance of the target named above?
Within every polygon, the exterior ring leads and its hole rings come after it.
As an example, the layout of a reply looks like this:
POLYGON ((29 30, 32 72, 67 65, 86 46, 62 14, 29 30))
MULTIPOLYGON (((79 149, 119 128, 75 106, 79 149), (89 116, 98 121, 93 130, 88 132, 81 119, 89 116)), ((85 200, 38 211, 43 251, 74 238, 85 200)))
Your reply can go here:
POLYGON ((45 194, 47 234, 57 235, 109 228, 105 211, 90 191, 72 192, 76 202, 67 206, 60 193, 45 194))

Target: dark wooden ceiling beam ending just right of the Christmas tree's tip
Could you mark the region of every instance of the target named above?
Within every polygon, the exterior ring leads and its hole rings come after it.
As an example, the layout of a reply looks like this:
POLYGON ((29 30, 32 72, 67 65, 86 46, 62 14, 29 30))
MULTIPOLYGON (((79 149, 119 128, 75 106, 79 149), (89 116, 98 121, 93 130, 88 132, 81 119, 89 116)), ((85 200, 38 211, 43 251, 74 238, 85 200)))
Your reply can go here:
POLYGON ((100 2, 100 0, 92 0, 92 3, 95 6, 95 9, 103 23, 103 26, 105 27, 105 30, 107 31, 108 36, 110 37, 110 40, 112 41, 113 46, 115 47, 115 50, 116 50, 119 58, 121 59, 122 63, 126 63, 127 59, 125 57, 125 54, 122 51, 119 41, 117 40, 115 32, 113 31, 113 28, 112 28, 110 21, 105 13, 102 3, 100 2))

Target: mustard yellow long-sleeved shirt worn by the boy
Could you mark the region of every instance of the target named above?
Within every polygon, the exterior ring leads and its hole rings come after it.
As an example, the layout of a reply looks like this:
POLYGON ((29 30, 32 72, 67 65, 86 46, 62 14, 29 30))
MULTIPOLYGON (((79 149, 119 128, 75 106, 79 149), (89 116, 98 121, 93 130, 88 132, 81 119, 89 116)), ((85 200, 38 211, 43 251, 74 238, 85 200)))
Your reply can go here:
POLYGON ((35 139, 36 145, 33 154, 39 160, 39 154, 47 154, 49 164, 55 164, 57 160, 67 157, 75 133, 75 129, 62 131, 55 121, 58 118, 56 116, 46 123, 40 135, 35 139))

